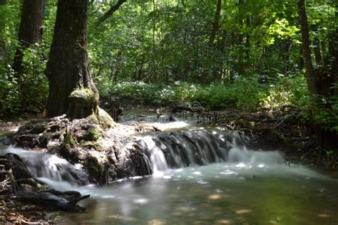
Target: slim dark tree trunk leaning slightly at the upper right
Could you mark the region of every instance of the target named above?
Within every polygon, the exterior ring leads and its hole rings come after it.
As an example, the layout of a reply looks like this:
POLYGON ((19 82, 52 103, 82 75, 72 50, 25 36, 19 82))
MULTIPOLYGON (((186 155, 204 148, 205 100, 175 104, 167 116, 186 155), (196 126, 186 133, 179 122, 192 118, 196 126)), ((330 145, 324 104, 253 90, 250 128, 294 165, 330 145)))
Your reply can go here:
POLYGON ((307 23, 307 12, 305 9, 305 0, 299 0, 298 2, 299 9, 299 21, 302 32, 302 56, 305 67, 305 75, 307 78, 307 89, 309 93, 312 95, 317 95, 318 90, 316 87, 316 78, 314 75, 314 70, 311 61, 311 50, 309 48, 309 25, 307 23))

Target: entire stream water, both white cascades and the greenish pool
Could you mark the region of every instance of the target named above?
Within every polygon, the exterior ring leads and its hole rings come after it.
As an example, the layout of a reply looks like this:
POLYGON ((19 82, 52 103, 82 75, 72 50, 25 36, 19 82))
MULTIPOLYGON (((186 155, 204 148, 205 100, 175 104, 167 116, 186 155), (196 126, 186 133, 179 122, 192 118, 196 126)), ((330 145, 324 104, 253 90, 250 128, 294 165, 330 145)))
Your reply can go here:
POLYGON ((237 132, 157 126, 167 131, 138 137, 154 174, 104 187, 78 187, 81 168, 64 159, 1 148, 51 187, 91 194, 85 213, 63 213, 65 224, 338 224, 338 179, 289 165, 279 152, 247 150, 237 132))

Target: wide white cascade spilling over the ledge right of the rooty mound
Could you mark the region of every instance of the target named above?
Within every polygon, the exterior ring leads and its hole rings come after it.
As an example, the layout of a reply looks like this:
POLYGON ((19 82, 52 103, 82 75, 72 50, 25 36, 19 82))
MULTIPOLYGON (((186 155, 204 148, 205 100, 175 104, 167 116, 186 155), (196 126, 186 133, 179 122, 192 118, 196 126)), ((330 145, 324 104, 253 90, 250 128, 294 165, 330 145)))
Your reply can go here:
POLYGON ((195 128, 151 132, 140 140, 150 151, 153 172, 170 168, 206 165, 213 162, 281 163, 278 152, 247 150, 248 139, 239 132, 195 128))

